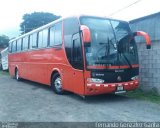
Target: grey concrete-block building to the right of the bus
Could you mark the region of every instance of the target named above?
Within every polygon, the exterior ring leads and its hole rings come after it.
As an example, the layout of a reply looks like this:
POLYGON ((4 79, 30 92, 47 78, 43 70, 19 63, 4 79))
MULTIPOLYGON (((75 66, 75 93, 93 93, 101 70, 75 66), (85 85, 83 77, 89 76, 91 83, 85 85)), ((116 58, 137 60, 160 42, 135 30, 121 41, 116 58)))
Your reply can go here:
POLYGON ((160 12, 130 21, 133 31, 142 30, 151 37, 152 48, 137 38, 140 63, 140 86, 144 91, 160 94, 160 12))

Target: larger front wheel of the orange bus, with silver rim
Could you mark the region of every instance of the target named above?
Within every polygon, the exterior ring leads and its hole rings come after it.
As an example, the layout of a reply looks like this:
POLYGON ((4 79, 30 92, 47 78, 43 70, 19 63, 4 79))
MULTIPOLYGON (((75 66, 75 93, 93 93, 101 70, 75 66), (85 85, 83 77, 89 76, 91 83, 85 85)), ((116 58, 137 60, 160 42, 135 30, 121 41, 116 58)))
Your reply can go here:
POLYGON ((55 73, 52 77, 51 88, 56 94, 64 94, 62 89, 62 79, 58 73, 55 73))

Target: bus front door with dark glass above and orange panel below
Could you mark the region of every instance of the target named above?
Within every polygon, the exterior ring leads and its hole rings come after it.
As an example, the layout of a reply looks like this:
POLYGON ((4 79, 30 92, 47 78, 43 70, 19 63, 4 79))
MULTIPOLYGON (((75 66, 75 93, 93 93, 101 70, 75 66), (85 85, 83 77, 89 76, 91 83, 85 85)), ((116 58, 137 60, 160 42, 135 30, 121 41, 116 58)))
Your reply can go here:
POLYGON ((79 33, 74 34, 71 48, 71 65, 73 67, 72 85, 75 93, 84 94, 84 65, 82 44, 79 33))

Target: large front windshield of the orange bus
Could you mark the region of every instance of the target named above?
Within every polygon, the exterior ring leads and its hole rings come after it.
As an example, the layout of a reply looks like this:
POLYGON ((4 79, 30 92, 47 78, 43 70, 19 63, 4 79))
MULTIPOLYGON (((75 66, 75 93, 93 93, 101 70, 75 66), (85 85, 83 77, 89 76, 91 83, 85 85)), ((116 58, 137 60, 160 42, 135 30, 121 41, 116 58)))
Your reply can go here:
POLYGON ((91 32, 91 42, 85 44, 87 67, 128 66, 138 64, 136 43, 127 22, 81 17, 80 22, 91 32))

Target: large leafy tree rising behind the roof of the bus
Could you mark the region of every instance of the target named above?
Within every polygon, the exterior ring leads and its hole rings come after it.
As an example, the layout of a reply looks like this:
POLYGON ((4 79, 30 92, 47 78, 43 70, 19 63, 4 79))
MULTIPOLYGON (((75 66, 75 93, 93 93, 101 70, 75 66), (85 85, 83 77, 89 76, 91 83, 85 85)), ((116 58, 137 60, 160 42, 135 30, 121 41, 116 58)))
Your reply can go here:
POLYGON ((33 12, 31 14, 24 14, 23 22, 20 24, 20 31, 22 31, 22 34, 27 33, 58 18, 60 18, 60 16, 56 16, 48 12, 33 12))

